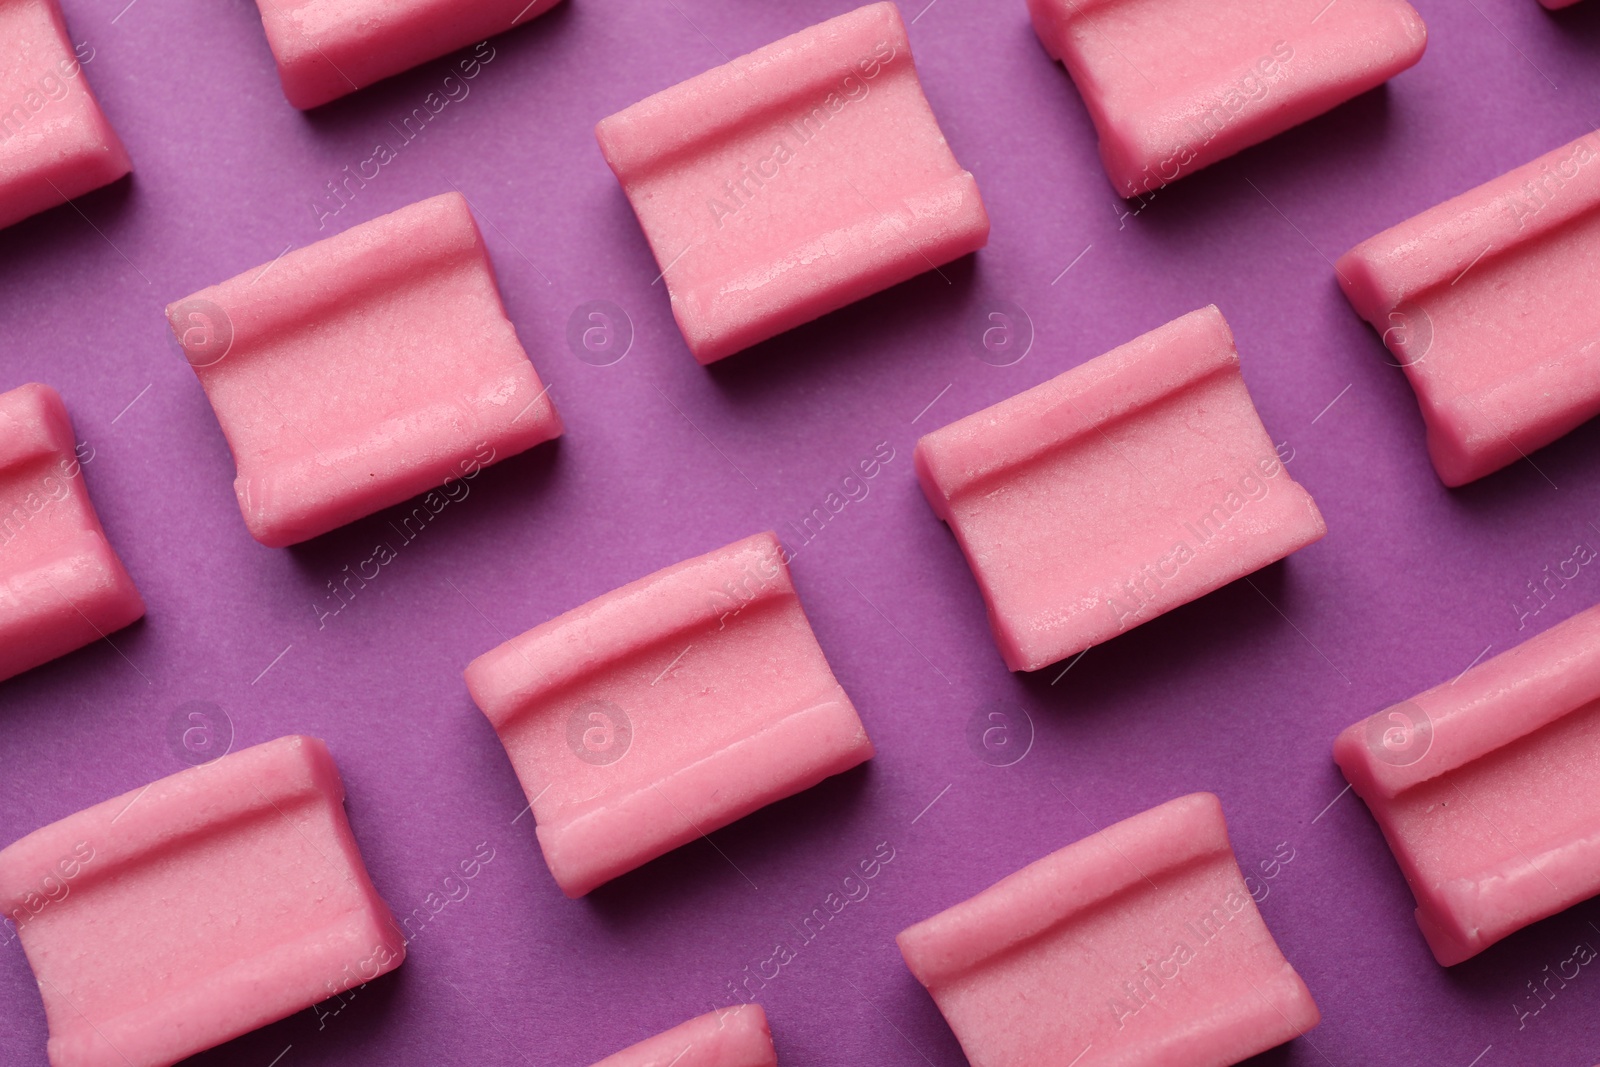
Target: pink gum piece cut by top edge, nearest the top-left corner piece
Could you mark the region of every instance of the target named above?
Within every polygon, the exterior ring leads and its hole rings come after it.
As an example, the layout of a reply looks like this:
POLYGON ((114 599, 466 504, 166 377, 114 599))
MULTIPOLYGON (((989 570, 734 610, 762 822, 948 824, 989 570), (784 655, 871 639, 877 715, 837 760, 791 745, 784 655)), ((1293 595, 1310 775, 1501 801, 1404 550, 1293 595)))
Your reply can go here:
MULTIPOLYGON (((301 109, 326 104, 504 34, 557 3, 560 0, 256 0, 283 94, 301 109)), ((464 66, 462 72, 477 77, 472 66, 464 66)))

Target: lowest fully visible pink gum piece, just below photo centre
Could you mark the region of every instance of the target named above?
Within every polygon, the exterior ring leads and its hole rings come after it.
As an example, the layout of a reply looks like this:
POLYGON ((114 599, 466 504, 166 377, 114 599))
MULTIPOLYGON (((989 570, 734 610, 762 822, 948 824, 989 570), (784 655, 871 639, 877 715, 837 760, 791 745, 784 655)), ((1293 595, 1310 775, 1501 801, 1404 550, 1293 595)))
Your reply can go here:
POLYGON ((771 533, 536 625, 466 678, 573 897, 872 758, 771 533))

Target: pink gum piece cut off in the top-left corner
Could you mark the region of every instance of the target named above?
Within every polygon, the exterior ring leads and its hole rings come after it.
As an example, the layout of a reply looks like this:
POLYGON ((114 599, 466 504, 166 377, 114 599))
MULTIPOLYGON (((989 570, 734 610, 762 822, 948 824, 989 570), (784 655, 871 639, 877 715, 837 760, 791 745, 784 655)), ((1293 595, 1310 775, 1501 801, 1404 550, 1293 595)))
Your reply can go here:
POLYGON ((0 0, 0 229, 133 170, 56 0, 0 0))

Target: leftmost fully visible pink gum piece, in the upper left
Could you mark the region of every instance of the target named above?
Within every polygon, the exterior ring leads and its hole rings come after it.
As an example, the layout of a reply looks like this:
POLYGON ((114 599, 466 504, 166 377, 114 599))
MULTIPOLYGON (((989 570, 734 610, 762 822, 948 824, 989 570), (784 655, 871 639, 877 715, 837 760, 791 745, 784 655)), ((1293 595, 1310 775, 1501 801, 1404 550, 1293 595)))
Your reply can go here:
POLYGON ((266 545, 448 491, 562 434, 461 194, 290 251, 168 306, 166 318, 266 545))

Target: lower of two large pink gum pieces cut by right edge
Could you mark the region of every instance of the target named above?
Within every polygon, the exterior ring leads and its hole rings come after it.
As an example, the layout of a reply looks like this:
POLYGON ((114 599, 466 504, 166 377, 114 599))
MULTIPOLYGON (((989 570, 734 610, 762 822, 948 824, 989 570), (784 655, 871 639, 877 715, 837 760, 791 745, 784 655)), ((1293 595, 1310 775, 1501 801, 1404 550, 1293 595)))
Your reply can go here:
POLYGON ((1461 963, 1600 893, 1600 608, 1355 723, 1333 758, 1461 963))

